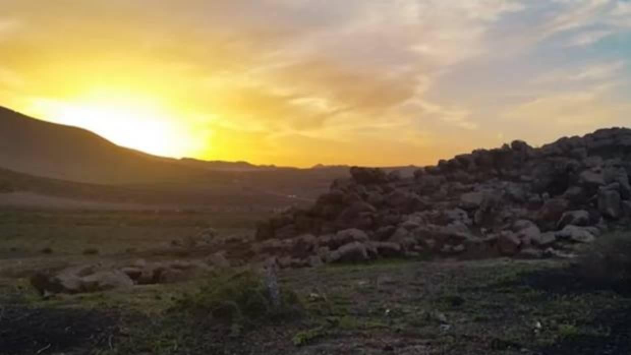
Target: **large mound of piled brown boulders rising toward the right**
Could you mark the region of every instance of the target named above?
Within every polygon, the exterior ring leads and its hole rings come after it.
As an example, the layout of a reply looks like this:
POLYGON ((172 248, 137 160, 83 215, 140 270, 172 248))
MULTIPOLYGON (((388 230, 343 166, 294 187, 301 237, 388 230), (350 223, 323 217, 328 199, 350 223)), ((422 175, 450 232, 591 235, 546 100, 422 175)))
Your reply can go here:
POLYGON ((257 228, 281 267, 432 255, 562 257, 631 219, 631 129, 478 149, 414 177, 351 168, 309 209, 257 228))

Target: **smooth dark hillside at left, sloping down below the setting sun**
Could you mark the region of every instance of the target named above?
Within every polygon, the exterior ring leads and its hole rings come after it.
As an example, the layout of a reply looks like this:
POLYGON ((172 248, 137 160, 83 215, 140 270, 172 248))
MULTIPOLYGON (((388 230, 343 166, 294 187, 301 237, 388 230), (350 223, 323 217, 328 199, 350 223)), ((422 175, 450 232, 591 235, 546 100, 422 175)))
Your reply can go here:
MULTIPOLYGON (((231 172, 258 170, 245 162, 175 160, 122 148, 77 127, 33 119, 0 107, 0 167, 86 183, 126 184, 232 180, 231 172), (209 173, 208 170, 215 170, 209 173)), ((269 169, 269 166, 261 169, 269 169)))

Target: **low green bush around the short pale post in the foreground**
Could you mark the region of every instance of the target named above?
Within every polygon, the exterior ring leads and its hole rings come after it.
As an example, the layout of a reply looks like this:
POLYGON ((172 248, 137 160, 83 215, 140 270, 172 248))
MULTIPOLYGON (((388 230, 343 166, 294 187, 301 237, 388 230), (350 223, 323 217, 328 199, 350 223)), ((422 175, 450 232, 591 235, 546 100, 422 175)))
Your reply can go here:
POLYGON ((302 313, 295 293, 280 289, 280 301, 274 302, 264 279, 252 271, 214 277, 197 293, 177 300, 175 308, 226 323, 278 320, 302 313))

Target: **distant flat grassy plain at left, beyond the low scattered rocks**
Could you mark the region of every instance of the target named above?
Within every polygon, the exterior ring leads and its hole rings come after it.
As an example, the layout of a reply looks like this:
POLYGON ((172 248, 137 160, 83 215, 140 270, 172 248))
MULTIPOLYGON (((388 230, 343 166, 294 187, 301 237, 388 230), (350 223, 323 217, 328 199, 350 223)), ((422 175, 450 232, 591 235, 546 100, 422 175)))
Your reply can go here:
POLYGON ((249 233, 264 214, 245 212, 16 211, 0 209, 0 257, 11 249, 33 253, 51 248, 64 255, 98 249, 101 254, 146 250, 213 227, 249 233))

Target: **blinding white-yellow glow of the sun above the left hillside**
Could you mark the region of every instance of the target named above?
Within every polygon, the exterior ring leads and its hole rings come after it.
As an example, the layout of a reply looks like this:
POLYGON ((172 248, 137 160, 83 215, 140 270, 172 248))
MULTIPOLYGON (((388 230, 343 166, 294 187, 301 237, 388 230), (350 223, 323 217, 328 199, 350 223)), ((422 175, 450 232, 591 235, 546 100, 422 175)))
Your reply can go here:
POLYGON ((199 149, 191 132, 177 124, 175 113, 142 95, 93 91, 69 100, 35 98, 30 106, 52 122, 82 127, 146 153, 180 158, 199 149))

